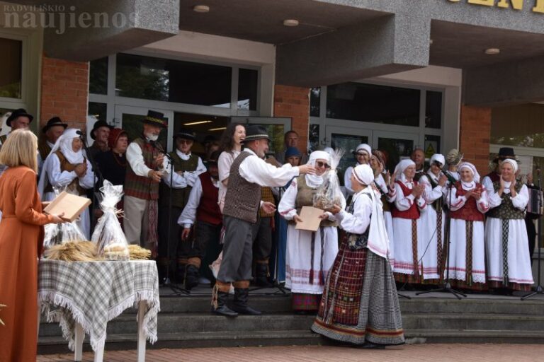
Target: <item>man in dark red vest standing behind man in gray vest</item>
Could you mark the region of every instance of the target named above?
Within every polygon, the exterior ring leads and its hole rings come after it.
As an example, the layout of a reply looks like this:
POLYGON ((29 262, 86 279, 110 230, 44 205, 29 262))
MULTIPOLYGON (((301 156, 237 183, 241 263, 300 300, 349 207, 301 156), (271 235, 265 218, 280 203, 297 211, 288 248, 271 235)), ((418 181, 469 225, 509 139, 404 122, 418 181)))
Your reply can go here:
MULTIPOLYGON (((208 171, 198 175, 191 188, 188 202, 178 218, 178 225, 183 227, 181 243, 185 245, 181 249, 184 252, 183 257, 187 259, 185 270, 185 288, 187 289, 198 286, 199 269, 203 259, 206 258, 211 263, 219 255, 218 250, 215 255, 206 255, 206 251, 209 250, 208 246, 217 245, 215 249, 220 246, 223 226, 223 215, 217 204, 219 197, 217 160, 220 153, 221 151, 215 151, 208 158, 208 171), (195 224, 194 235, 191 238, 191 230, 195 224)), ((205 263, 205 265, 208 264, 205 263)))

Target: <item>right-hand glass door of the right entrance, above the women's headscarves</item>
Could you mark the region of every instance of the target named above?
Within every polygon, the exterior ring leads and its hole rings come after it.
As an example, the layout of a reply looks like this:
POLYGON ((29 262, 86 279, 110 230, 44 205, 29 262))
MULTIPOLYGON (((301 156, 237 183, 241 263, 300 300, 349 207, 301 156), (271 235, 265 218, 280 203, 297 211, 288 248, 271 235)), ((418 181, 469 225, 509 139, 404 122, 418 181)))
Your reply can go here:
POLYGON ((418 144, 418 140, 418 134, 374 131, 372 146, 385 152, 387 155, 387 170, 392 173, 399 160, 410 157, 418 144))

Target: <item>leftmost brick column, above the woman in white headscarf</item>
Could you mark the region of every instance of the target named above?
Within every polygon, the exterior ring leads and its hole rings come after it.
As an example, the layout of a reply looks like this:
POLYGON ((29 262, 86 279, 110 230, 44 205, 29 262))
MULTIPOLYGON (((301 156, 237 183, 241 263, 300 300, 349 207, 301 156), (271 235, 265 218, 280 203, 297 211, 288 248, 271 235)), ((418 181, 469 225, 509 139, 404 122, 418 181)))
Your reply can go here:
POLYGON ((59 116, 70 127, 83 129, 89 102, 89 63, 42 58, 40 129, 59 116))

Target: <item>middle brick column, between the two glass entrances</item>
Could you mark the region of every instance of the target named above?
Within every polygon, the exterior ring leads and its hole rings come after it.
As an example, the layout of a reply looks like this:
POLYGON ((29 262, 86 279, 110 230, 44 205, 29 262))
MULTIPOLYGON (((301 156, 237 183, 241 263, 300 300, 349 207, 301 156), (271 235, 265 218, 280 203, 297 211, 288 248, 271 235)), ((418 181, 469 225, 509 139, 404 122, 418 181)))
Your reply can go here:
MULTIPOLYGON (((292 128, 297 132, 298 148, 306 153, 308 124, 310 123, 310 88, 274 86, 274 117, 291 117, 292 128)), ((289 129, 285 129, 285 132, 289 129)))

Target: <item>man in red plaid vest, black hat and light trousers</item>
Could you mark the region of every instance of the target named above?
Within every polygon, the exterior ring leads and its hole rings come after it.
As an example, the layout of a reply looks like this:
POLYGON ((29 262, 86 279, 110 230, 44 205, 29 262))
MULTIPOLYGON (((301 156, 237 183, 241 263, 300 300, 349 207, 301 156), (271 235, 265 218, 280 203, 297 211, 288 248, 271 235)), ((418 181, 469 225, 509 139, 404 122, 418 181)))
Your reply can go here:
POLYGON ((143 119, 142 135, 127 148, 125 177, 125 235, 131 244, 142 245, 157 256, 157 219, 159 182, 164 156, 155 142, 167 119, 161 112, 149 110, 143 119))

